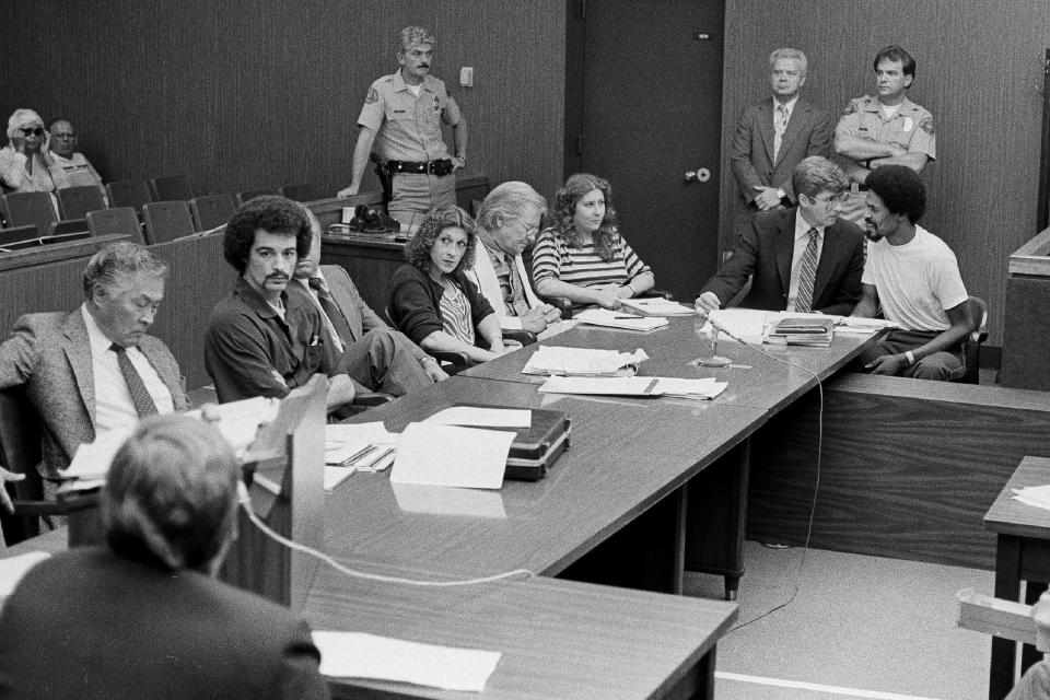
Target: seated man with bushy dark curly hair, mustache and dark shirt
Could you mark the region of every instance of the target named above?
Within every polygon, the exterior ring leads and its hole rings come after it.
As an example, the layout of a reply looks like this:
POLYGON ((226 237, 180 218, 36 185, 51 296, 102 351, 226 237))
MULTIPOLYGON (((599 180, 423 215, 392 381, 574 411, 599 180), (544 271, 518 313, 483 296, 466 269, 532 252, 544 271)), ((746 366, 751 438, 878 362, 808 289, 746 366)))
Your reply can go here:
POLYGON ((205 368, 220 401, 283 398, 318 372, 331 381, 329 410, 353 400, 353 381, 325 352, 320 313, 288 293, 311 240, 299 205, 283 197, 256 197, 226 224, 223 257, 241 277, 211 311, 205 337, 205 368))

